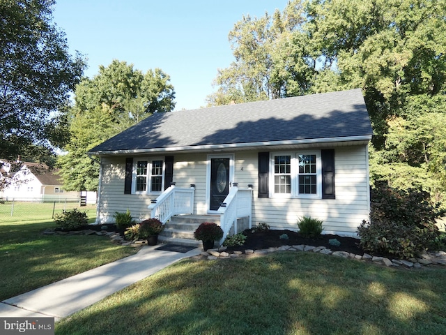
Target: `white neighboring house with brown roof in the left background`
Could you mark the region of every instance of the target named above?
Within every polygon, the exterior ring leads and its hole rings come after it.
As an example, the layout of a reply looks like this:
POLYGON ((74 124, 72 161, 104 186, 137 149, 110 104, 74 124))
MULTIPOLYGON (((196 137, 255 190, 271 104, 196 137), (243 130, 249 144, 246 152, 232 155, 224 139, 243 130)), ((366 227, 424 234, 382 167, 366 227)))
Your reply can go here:
MULTIPOLYGON (((1 161, 3 175, 9 174, 8 163, 1 161)), ((22 169, 16 172, 18 183, 11 184, 1 192, 4 200, 16 201, 79 201, 79 192, 63 190, 59 169, 49 170, 45 165, 23 162, 22 169)), ((87 195, 88 203, 96 202, 96 193, 87 195)))

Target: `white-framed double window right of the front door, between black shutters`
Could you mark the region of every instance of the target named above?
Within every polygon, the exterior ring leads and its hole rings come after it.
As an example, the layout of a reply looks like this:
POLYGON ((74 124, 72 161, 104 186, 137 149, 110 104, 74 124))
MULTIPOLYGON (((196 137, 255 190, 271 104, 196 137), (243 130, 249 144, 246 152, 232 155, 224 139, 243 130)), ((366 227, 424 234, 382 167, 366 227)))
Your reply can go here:
POLYGON ((321 151, 272 153, 271 164, 271 196, 321 198, 321 151))

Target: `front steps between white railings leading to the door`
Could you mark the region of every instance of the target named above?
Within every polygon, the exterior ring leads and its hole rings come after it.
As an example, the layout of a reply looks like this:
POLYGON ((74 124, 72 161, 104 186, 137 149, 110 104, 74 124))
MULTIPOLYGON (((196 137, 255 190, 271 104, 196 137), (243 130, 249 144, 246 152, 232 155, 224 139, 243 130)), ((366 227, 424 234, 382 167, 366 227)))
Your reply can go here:
POLYGON ((177 215, 172 216, 164 225, 164 230, 158 235, 158 240, 164 244, 180 246, 197 246, 203 244, 194 238, 194 231, 203 222, 213 222, 220 225, 218 215, 177 215))

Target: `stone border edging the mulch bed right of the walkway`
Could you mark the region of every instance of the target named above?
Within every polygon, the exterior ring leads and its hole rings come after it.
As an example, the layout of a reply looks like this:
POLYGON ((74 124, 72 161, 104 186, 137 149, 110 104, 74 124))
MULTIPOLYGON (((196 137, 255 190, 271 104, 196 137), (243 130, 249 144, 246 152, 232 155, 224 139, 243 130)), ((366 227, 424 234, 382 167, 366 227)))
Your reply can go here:
POLYGON ((207 260, 224 260, 230 258, 240 258, 241 256, 259 256, 266 255, 268 253, 274 253, 277 251, 300 251, 300 252, 312 252, 322 253, 323 255, 333 255, 341 258, 350 258, 353 260, 363 260, 373 262, 385 267, 403 267, 406 269, 421 269, 422 267, 428 267, 429 265, 446 265, 446 252, 439 251, 438 253, 423 253, 420 258, 410 258, 409 260, 397 260, 379 256, 372 256, 368 253, 364 255, 355 255, 353 253, 347 253, 346 251, 331 251, 323 246, 306 246, 300 244, 298 246, 279 246, 277 248, 259 249, 259 250, 245 250, 234 251, 234 253, 227 253, 226 247, 209 249, 201 253, 196 258, 206 258, 207 260))

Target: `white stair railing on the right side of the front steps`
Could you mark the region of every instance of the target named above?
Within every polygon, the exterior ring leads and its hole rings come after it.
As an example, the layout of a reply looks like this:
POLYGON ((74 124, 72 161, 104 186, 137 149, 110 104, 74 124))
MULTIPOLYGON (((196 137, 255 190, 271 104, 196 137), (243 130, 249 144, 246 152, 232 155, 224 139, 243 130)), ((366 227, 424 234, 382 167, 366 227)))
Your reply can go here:
POLYGON ((229 194, 224 199, 218 209, 220 214, 220 227, 223 230, 223 237, 220 239, 220 244, 226 239, 232 226, 238 232, 237 219, 248 216, 249 228, 252 227, 252 186, 247 189, 238 188, 237 183, 233 183, 233 187, 229 194))

